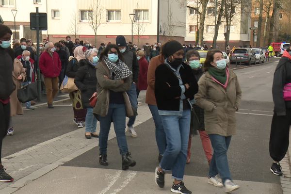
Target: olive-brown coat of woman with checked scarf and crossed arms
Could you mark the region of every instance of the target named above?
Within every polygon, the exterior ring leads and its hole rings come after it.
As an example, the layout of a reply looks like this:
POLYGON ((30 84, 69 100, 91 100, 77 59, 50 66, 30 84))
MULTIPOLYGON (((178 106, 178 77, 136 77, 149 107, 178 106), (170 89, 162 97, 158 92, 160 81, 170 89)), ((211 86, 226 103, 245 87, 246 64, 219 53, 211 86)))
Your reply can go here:
POLYGON ((111 80, 112 75, 104 62, 99 62, 96 70, 97 75, 97 103, 94 107, 93 113, 99 116, 106 116, 109 109, 109 95, 110 90, 113 92, 123 92, 123 98, 126 108, 126 116, 136 115, 130 104, 129 96, 126 93, 130 89, 131 79, 125 79, 125 82, 121 80, 111 80), (105 78, 107 76, 109 79, 105 78))

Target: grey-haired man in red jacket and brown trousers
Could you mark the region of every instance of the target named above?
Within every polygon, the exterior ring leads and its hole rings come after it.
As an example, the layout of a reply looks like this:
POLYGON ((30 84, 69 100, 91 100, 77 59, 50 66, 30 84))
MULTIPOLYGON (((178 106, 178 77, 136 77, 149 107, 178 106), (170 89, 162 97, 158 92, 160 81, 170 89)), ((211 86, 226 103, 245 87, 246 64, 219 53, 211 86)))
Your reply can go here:
POLYGON ((48 108, 52 109, 54 108, 52 105, 53 98, 59 91, 58 77, 62 70, 62 63, 58 53, 55 52, 56 48, 52 42, 48 42, 45 48, 46 51, 44 51, 39 58, 39 68, 45 78, 48 108))

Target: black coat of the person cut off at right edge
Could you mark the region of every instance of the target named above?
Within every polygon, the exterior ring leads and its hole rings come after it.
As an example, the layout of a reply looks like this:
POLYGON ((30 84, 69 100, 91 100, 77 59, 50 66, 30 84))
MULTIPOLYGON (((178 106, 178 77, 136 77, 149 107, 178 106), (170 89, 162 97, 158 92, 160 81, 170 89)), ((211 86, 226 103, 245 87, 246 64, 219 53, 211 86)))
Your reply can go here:
POLYGON ((291 101, 284 101, 283 87, 286 83, 291 83, 291 60, 282 57, 276 67, 273 80, 273 101, 275 104, 274 113, 278 116, 286 115, 286 108, 291 109, 291 101))

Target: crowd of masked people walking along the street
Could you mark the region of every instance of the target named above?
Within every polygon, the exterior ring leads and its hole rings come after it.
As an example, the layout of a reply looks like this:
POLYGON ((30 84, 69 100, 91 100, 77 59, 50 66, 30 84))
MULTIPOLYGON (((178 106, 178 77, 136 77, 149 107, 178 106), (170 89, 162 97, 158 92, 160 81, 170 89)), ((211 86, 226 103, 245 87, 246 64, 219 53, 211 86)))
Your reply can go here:
MULTIPOLYGON (((17 89, 36 79, 34 61, 37 57, 32 43, 22 38, 11 49, 11 34, 7 26, 0 24, 0 68, 1 78, 5 80, 0 80, 0 146, 3 137, 14 132, 11 117, 23 114, 17 100, 17 89)), ((128 131, 132 137, 138 136, 134 129, 137 98, 140 91, 146 90, 146 103, 154 120, 159 151, 155 183, 163 188, 165 173, 172 172, 174 182, 171 191, 192 193, 186 188, 183 178, 185 166, 191 162, 192 135, 198 130, 209 164, 208 183, 225 187, 227 193, 239 189, 231 177, 227 150, 232 136, 236 134, 235 113, 240 106, 242 91, 236 74, 226 65, 222 51, 211 49, 202 66, 197 50, 207 50, 206 44, 193 48, 168 40, 163 45, 146 43, 139 49, 127 43, 123 35, 118 35, 115 41, 115 44, 102 43, 97 49, 89 41, 83 43, 76 39, 73 43, 69 36, 57 43, 44 39, 39 58, 43 77, 37 79, 44 81, 48 108, 54 108, 53 98, 59 92, 64 77, 73 79, 78 88, 69 93, 74 122, 78 128, 85 125, 85 138, 99 138, 100 165, 109 165, 107 142, 113 122, 122 169, 127 170, 136 162, 129 152, 125 132, 128 131), (92 105, 92 98, 97 98, 96 104, 92 105), (126 117, 129 117, 128 123, 126 117), (97 121, 100 123, 99 132, 97 121)), ((285 55, 291 59, 291 51, 285 55)), ((275 115, 270 153, 274 159, 271 171, 277 175, 282 174, 279 162, 289 144, 286 137, 289 134, 290 110, 288 103, 284 108, 281 93, 282 82, 288 82, 282 81, 281 74, 287 75, 287 78, 283 76, 285 80, 290 80, 286 73, 288 69, 280 68, 285 63, 290 61, 279 64, 273 86, 275 115), (281 115, 285 115, 284 118, 281 115), (275 129, 280 123, 286 124, 286 129, 282 129, 286 131, 285 135, 275 129), (276 152, 281 149, 278 138, 285 142, 281 152, 276 152)), ((31 102, 26 102, 25 106, 33 110, 31 102)), ((13 181, 4 171, 1 161, 0 181, 13 181)))

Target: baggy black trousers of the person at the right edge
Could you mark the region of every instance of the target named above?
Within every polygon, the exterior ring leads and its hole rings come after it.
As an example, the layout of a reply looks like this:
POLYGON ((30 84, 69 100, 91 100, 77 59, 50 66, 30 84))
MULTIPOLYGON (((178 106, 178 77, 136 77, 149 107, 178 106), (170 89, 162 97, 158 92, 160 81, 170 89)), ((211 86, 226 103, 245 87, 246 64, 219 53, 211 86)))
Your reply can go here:
POLYGON ((271 158, 280 162, 289 147, 289 131, 291 125, 291 109, 286 109, 285 116, 278 116, 276 113, 273 115, 269 152, 271 158))

